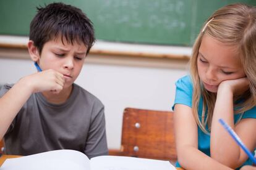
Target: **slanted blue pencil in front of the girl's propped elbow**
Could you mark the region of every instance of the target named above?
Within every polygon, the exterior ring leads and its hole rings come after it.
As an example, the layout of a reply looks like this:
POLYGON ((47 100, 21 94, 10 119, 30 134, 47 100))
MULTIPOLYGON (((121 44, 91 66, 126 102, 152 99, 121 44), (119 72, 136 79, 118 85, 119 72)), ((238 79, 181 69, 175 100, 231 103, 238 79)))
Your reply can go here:
POLYGON ((228 124, 226 124, 223 119, 219 119, 219 122, 228 131, 228 133, 233 137, 233 139, 236 140, 236 143, 249 156, 250 160, 252 160, 254 162, 254 164, 256 164, 256 158, 254 157, 254 155, 252 155, 250 150, 247 147, 245 147, 244 143, 242 143, 242 140, 237 136, 236 132, 234 132, 233 129, 231 129, 231 127, 228 126, 228 124))

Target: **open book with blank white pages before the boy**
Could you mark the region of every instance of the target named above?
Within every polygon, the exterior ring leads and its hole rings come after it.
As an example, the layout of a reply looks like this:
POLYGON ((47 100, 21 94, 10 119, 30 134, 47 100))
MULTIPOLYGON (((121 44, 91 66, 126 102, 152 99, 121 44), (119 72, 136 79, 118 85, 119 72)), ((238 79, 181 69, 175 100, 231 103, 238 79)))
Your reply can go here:
POLYGON ((171 170, 169 161, 133 158, 127 156, 97 156, 89 158, 75 150, 54 150, 7 159, 1 170, 171 170))

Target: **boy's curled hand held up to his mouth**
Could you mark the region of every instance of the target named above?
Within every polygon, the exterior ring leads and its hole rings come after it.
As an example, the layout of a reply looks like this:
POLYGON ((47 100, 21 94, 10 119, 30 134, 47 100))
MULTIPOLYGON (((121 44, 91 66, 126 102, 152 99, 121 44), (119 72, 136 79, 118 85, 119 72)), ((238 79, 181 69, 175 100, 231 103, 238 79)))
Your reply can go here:
POLYGON ((45 70, 21 79, 31 87, 32 92, 52 91, 58 94, 62 91, 65 79, 58 71, 45 70))

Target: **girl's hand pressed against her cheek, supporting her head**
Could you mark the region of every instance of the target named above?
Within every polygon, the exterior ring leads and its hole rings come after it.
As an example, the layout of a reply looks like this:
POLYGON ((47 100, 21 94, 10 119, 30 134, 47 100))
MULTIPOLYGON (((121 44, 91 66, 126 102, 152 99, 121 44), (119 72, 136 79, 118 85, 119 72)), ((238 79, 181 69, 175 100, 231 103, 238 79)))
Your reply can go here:
POLYGON ((247 89, 249 89, 249 81, 245 77, 239 79, 229 79, 221 82, 218 87, 218 92, 231 90, 233 95, 240 95, 247 91, 247 89))

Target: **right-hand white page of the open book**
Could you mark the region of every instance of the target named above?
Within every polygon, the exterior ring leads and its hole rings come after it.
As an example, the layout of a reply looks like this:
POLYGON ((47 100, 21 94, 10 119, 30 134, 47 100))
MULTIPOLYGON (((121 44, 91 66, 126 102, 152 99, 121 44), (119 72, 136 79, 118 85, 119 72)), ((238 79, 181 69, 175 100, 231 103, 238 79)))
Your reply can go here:
POLYGON ((133 158, 127 156, 97 156, 91 159, 91 170, 172 170, 169 161, 133 158))

